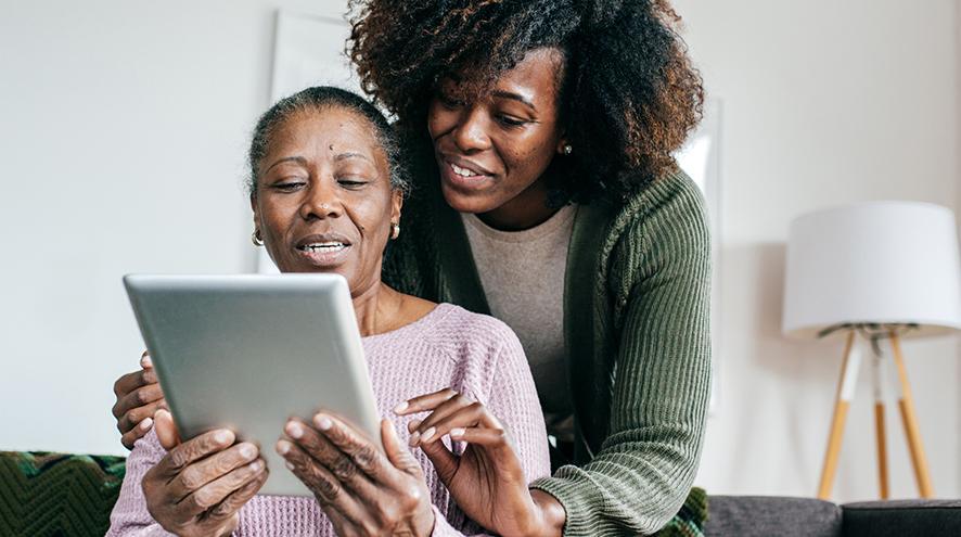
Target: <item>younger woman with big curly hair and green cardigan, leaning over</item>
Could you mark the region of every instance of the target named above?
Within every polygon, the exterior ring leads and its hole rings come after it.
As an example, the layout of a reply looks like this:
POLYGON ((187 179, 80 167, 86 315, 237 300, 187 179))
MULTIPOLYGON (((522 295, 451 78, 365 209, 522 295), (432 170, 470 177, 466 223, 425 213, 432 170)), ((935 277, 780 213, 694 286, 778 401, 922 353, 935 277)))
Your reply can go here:
MULTIPOLYGON (((552 476, 489 480, 504 501, 475 520, 655 532, 691 489, 710 372, 708 230, 671 156, 703 101, 679 17, 667 0, 351 4, 354 61, 397 115, 418 187, 384 279, 507 322, 556 439, 552 476)), ((162 394, 149 369, 116 387, 129 442, 162 394)))

